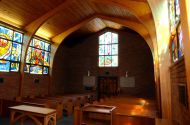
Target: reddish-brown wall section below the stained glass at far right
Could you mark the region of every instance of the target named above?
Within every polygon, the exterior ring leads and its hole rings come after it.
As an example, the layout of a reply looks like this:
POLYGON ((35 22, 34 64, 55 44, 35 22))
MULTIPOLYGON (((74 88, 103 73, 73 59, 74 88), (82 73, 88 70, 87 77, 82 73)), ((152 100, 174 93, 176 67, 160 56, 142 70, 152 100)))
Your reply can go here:
MULTIPOLYGON (((172 119, 177 121, 180 125, 187 125, 190 123, 190 113, 188 108, 180 103, 179 86, 187 87, 186 69, 184 58, 178 60, 170 68, 171 73, 171 99, 172 99, 172 119)), ((187 88, 186 88, 187 89, 187 88)), ((187 93, 185 93, 187 94, 187 93)), ((187 95, 184 97, 188 100, 187 95)), ((187 104, 188 105, 188 104, 187 104)))

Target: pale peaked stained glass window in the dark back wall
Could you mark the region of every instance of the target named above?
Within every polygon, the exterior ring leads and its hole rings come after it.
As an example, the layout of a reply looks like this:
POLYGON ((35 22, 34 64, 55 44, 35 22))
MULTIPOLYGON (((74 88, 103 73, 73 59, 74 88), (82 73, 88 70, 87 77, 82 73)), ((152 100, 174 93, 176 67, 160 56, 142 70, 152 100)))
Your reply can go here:
POLYGON ((99 67, 118 66, 118 34, 106 32, 99 36, 99 67))

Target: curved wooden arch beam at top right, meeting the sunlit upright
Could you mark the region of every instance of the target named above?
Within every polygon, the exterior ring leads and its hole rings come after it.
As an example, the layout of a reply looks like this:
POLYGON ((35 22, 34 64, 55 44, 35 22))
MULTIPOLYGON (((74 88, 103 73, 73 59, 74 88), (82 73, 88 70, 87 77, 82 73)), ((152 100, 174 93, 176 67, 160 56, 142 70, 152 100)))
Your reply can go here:
POLYGON ((131 12, 131 14, 134 15, 145 26, 145 29, 148 31, 148 34, 150 34, 150 38, 153 44, 157 44, 154 19, 147 0, 128 0, 127 2, 126 0, 90 0, 90 1, 99 4, 118 6, 129 10, 129 12, 131 12))

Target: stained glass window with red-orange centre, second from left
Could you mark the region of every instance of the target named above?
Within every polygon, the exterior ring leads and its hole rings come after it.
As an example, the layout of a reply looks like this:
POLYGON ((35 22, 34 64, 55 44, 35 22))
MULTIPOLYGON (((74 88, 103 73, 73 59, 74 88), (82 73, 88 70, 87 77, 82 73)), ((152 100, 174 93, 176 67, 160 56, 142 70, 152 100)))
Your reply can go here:
POLYGON ((48 74, 51 44, 44 39, 33 38, 27 51, 25 73, 48 74))

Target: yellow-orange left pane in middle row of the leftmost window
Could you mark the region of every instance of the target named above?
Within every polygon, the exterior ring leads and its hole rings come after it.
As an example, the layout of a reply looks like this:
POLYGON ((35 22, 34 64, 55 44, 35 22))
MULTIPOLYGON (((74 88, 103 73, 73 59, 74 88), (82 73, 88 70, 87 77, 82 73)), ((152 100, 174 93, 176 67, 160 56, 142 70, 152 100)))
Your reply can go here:
POLYGON ((0 59, 10 60, 12 43, 0 38, 0 59))

